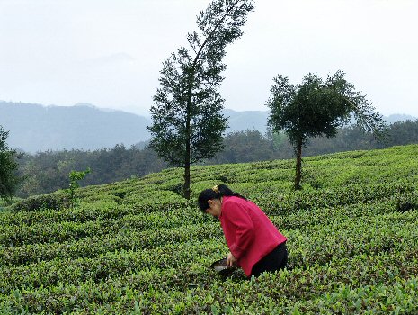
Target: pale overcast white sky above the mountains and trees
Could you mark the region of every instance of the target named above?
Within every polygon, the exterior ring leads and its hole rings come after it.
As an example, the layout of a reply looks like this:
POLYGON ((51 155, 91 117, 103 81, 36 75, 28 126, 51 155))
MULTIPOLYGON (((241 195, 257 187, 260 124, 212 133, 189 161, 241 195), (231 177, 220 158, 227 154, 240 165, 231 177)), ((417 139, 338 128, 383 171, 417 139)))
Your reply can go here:
MULTIPOLYGON (((162 62, 210 0, 0 0, 0 100, 146 114, 162 62)), ((377 111, 418 116, 418 0, 255 0, 227 49, 225 107, 262 110, 272 78, 341 69, 377 111)))

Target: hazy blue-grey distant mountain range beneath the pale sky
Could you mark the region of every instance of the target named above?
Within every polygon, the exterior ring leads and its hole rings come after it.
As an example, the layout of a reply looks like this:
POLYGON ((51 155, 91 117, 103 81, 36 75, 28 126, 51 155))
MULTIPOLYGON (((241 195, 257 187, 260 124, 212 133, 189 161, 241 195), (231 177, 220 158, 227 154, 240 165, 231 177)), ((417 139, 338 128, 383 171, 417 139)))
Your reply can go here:
MULTIPOLYGON (((226 109, 227 133, 267 130, 269 112, 236 112, 226 109)), ((388 123, 415 120, 409 115, 385 117, 388 123)), ((134 113, 103 110, 89 103, 75 106, 43 106, 33 103, 0 101, 0 125, 10 131, 10 148, 36 153, 48 150, 113 148, 117 144, 142 148, 150 134, 150 118, 134 113)))

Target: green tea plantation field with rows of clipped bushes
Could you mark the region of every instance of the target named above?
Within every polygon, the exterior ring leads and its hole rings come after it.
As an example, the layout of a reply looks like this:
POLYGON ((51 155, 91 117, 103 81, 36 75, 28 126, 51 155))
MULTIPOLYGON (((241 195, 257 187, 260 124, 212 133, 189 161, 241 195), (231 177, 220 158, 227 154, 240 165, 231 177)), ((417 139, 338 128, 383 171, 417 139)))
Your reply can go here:
POLYGON ((293 160, 195 166, 84 187, 0 212, 0 314, 416 314, 418 146, 293 160), (227 183, 288 240, 289 266, 246 279, 209 265, 227 255, 202 189, 227 183), (36 204, 44 206, 36 206, 36 204), (50 209, 48 209, 50 208, 50 209))

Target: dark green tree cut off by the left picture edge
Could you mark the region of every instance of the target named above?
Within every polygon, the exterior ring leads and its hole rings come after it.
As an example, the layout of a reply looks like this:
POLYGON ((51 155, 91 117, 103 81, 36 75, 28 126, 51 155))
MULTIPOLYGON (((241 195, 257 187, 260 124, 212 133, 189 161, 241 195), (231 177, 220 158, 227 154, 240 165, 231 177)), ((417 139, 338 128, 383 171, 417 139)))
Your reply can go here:
POLYGON ((17 175, 17 153, 8 147, 6 139, 9 131, 0 126, 0 198, 6 202, 13 199, 20 178, 17 175))

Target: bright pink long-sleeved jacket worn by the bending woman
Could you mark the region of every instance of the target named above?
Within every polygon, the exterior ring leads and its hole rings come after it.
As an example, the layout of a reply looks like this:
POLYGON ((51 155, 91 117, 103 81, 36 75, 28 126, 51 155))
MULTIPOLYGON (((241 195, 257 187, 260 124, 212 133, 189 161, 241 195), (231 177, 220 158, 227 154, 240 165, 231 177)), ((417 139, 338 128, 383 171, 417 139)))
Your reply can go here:
POLYGON ((239 197, 222 198, 219 220, 227 246, 247 276, 262 257, 287 240, 255 203, 239 197))

